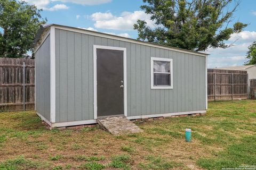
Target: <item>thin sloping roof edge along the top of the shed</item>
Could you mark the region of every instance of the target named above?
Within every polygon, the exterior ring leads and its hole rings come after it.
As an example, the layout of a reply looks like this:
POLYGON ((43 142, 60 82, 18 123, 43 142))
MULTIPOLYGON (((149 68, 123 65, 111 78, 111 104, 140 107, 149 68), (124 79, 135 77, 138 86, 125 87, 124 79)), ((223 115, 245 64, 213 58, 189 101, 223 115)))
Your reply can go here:
POLYGON ((65 25, 59 25, 59 24, 44 24, 44 25, 41 25, 40 29, 37 31, 36 33, 36 36, 35 36, 35 39, 34 39, 34 46, 37 44, 37 41, 41 38, 41 35, 43 34, 44 30, 51 27, 51 26, 56 26, 56 27, 61 27, 61 28, 66 28, 66 29, 73 29, 73 30, 77 30, 77 31, 83 31, 84 33, 87 33, 89 35, 91 34, 95 34, 97 33, 98 36, 99 35, 102 35, 102 36, 110 36, 111 38, 113 39, 116 39, 116 38, 119 38, 119 39, 122 39, 123 41, 132 41, 134 43, 137 43, 137 44, 148 44, 148 45, 154 45, 154 46, 160 46, 160 47, 165 47, 165 48, 168 48, 170 50, 174 50, 174 51, 182 51, 183 53, 192 53, 192 54, 195 54, 195 55, 201 55, 201 56, 207 56, 209 54, 206 54, 206 53, 202 53, 202 52, 195 52, 193 50, 188 50, 188 49, 182 49, 182 48, 177 48, 177 47, 170 47, 170 46, 165 46, 165 45, 161 45, 161 44, 156 44, 156 43, 149 43, 149 42, 146 42, 146 41, 141 41, 141 40, 138 40, 138 39, 132 39, 132 38, 126 38, 126 37, 121 37, 121 36, 116 36, 116 35, 110 35, 108 33, 102 33, 102 32, 98 32, 98 31, 91 31, 91 30, 86 30, 86 29, 82 29, 82 28, 76 28, 76 27, 69 27, 69 26, 65 26, 65 25))

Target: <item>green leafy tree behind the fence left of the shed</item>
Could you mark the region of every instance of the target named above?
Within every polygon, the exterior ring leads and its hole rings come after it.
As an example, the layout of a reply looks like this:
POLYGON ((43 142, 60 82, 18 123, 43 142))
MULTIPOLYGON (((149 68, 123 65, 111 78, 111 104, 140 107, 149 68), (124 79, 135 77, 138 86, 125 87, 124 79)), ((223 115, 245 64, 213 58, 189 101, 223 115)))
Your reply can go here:
POLYGON ((0 1, 0 57, 28 57, 41 24, 46 23, 35 5, 15 0, 0 1))

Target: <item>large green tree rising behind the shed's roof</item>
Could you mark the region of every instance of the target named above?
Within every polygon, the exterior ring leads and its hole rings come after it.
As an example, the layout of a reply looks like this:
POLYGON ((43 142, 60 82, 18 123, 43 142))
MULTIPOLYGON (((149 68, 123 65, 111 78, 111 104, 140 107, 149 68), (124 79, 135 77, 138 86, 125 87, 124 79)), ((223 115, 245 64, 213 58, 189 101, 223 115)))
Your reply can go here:
POLYGON ((232 0, 143 0, 141 9, 151 15, 155 28, 138 20, 134 29, 138 39, 183 49, 204 51, 209 47, 227 48, 224 43, 232 33, 243 30, 247 24, 228 23, 239 5, 232 0), (231 9, 230 9, 230 6, 231 9))

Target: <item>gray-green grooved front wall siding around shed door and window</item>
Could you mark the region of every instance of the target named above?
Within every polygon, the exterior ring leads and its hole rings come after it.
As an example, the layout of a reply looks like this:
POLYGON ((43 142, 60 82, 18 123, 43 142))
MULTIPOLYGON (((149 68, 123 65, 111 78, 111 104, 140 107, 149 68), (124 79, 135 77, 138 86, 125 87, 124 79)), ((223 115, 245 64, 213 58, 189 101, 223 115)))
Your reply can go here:
POLYGON ((59 122, 94 118, 93 45, 126 48, 127 116, 205 110, 205 57, 58 29, 55 41, 59 122), (151 89, 150 57, 173 59, 173 89, 151 89))

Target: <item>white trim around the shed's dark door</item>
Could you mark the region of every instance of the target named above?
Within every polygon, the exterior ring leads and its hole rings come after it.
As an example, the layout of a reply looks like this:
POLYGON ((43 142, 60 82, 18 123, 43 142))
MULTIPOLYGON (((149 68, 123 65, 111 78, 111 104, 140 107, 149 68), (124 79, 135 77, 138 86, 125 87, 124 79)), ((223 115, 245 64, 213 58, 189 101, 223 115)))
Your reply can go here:
POLYGON ((97 119, 97 48, 121 50, 124 52, 124 115, 127 116, 127 79, 126 79, 126 48, 93 45, 93 106, 94 119, 97 119))

